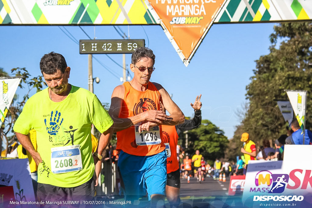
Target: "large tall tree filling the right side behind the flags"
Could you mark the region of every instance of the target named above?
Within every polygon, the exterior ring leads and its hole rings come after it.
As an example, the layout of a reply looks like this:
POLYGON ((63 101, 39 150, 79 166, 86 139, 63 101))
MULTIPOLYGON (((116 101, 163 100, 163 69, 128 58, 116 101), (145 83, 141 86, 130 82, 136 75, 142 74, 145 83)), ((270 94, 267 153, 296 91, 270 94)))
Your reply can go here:
MULTIPOLYGON (((257 149, 264 139, 286 133, 286 124, 275 99, 288 99, 285 89, 307 90, 306 128, 312 127, 312 23, 287 22, 274 26, 270 53, 256 60, 256 70, 246 86, 249 108, 233 142, 247 132, 257 149), (278 41, 280 46, 276 45, 278 41)), ((240 149, 241 143, 236 141, 240 149)))

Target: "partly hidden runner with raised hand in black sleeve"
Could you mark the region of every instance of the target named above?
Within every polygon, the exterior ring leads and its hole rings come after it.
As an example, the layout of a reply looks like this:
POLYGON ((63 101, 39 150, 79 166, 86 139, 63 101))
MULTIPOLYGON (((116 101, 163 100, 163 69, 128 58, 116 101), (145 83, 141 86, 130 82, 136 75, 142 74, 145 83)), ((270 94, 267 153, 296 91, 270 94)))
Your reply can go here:
MULTIPOLYGON (((200 98, 202 95, 196 97, 194 104, 191 103, 194 109, 194 118, 192 120, 185 119, 183 123, 176 126, 162 125, 163 141, 166 145, 167 153, 167 185, 166 196, 171 206, 179 206, 180 204, 180 170, 179 162, 177 160, 177 143, 178 135, 184 131, 198 128, 202 121, 201 107, 202 102, 200 98)), ((160 104, 160 109, 166 112, 163 104, 160 104)), ((181 155, 181 158, 183 156, 181 155)), ((191 161, 192 162, 192 161, 191 161)), ((189 182, 189 178, 188 178, 189 182)))

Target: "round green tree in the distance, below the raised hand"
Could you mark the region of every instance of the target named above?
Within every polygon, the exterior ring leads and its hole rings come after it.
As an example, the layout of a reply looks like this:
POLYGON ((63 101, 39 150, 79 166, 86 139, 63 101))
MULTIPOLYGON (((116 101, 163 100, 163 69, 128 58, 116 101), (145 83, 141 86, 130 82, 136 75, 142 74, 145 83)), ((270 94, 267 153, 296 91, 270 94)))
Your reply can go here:
POLYGON ((205 160, 215 160, 224 157, 228 140, 224 132, 209 120, 202 120, 199 128, 188 131, 188 152, 195 154, 198 149, 205 160))

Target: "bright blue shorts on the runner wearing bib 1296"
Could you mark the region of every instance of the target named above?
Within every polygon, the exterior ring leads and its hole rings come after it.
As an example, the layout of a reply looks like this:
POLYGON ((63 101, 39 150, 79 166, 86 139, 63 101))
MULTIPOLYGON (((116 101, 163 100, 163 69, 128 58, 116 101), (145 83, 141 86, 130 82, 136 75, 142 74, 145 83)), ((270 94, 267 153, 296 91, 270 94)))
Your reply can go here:
POLYGON ((138 199, 152 194, 165 195, 167 181, 167 155, 160 152, 151 156, 130 155, 120 151, 118 171, 121 179, 121 192, 125 196, 138 199))

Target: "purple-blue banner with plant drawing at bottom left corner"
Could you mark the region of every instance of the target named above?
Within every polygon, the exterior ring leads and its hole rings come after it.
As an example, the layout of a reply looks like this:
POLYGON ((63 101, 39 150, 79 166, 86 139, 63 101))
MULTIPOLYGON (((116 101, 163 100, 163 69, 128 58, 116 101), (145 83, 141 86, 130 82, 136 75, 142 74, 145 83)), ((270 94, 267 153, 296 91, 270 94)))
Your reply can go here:
POLYGON ((29 161, 27 158, 0 160, 0 167, 0 186, 2 186, 2 188, 8 187, 7 189, 0 189, 0 196, 6 195, 9 197, 13 194, 14 197, 13 199, 10 198, 11 201, 14 201, 14 199, 18 202, 35 201, 32 178, 30 177, 29 161), (10 187, 13 187, 13 190, 10 187), (8 190, 9 192, 2 192, 8 190))

